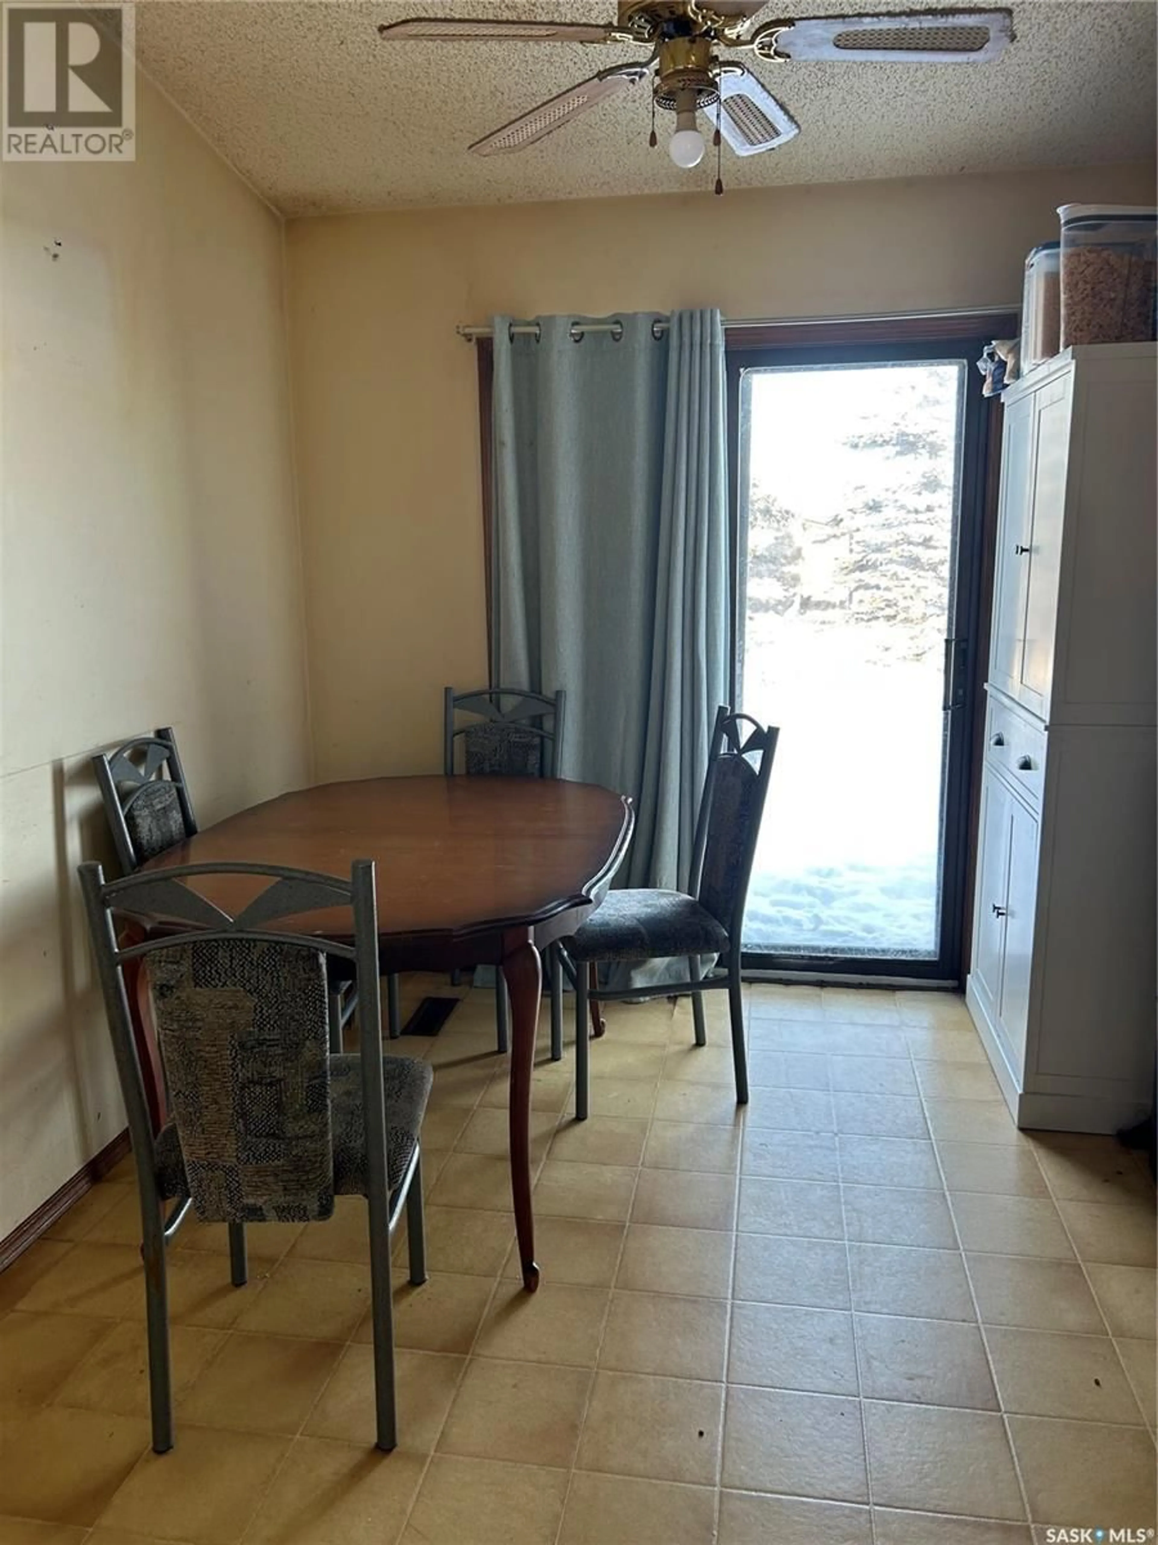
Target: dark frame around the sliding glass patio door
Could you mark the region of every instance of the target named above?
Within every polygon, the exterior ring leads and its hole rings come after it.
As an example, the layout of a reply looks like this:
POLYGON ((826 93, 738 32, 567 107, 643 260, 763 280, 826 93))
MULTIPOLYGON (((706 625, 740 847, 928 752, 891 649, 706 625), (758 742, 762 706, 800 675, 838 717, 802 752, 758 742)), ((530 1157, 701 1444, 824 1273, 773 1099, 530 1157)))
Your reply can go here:
MULTIPOLYGON (((769 326, 727 335, 729 522, 732 556, 732 701, 738 695, 738 660, 743 638, 743 572, 740 564, 741 377, 760 366, 885 365, 905 360, 967 360, 980 355, 991 338, 1016 337, 1016 314, 913 318, 911 321, 815 323, 769 326)), ((946 701, 956 715, 945 785, 945 861, 939 958, 934 961, 778 956, 744 953, 744 972, 780 976, 903 978, 959 986, 970 953, 971 899, 976 871, 977 793, 980 786, 980 729, 988 657, 988 621, 993 598, 993 541, 996 531, 997 467, 1001 453, 999 400, 980 394, 980 377, 967 382, 960 468, 960 511, 954 615, 946 640, 946 701), (838 967, 838 970, 834 970, 838 967)), ((775 791, 774 791, 775 797, 775 791)))

